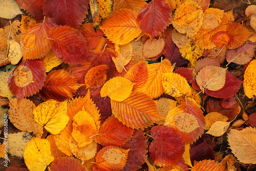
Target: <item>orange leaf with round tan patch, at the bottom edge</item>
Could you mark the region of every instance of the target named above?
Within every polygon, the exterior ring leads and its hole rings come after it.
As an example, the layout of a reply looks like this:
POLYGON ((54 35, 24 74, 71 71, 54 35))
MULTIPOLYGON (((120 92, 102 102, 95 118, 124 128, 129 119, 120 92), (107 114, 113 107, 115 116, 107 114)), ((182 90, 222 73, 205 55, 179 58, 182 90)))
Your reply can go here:
POLYGON ((93 168, 99 170, 120 170, 126 164, 128 152, 129 149, 106 146, 97 153, 97 163, 93 165, 93 168))

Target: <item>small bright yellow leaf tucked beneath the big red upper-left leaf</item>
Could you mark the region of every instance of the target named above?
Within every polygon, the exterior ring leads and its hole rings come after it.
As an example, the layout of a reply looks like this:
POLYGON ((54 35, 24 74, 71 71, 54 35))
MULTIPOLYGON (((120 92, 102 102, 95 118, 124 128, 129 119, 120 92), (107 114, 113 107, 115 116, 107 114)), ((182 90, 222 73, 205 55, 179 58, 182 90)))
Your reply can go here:
POLYGON ((46 72, 50 72, 51 69, 54 67, 57 67, 62 63, 59 58, 53 53, 53 51, 50 51, 44 58, 42 58, 42 62, 44 62, 44 67, 46 69, 46 72))

